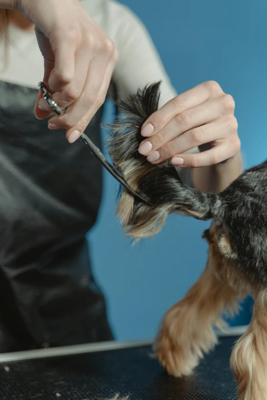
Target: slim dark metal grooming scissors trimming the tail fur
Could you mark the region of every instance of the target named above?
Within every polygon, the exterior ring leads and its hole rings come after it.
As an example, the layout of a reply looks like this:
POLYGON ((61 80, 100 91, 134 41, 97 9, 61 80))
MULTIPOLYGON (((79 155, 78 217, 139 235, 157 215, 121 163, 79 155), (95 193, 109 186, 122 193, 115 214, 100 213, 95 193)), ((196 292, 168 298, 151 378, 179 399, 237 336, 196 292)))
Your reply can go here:
MULTIPOLYGON (((52 110, 57 114, 57 115, 64 115, 66 112, 66 109, 63 108, 61 109, 58 107, 57 103, 53 100, 51 93, 47 90, 46 86, 44 86, 43 82, 39 82, 38 84, 39 89, 43 93, 43 99, 46 100, 46 102, 49 104, 49 106, 52 108, 52 110)), ((127 189, 129 193, 131 193, 133 196, 139 198, 139 200, 143 201, 146 204, 151 205, 146 199, 144 199, 142 196, 140 196, 136 191, 131 189, 131 187, 128 185, 128 183, 124 180, 123 176, 110 164, 110 162, 105 158, 104 154, 99 150, 99 148, 94 145, 92 140, 88 138, 87 135, 83 132, 80 136, 82 142, 85 144, 88 149, 91 150, 91 152, 96 156, 96 158, 101 162, 101 164, 105 167, 105 169, 112 174, 112 176, 117 179, 118 182, 122 186, 127 189)))

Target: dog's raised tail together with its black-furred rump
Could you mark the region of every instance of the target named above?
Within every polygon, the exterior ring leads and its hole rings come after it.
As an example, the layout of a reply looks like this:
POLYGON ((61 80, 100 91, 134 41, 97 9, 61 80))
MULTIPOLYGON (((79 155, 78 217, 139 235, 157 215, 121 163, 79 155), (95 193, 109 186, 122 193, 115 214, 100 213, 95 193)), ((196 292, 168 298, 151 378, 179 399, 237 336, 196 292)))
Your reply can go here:
POLYGON ((221 250, 250 281, 267 285, 267 161, 215 195, 186 186, 169 162, 153 166, 138 152, 142 124, 158 109, 160 82, 138 90, 119 104, 112 125, 110 156, 125 180, 153 206, 121 190, 118 214, 128 236, 159 231, 167 215, 182 213, 221 226, 221 250))

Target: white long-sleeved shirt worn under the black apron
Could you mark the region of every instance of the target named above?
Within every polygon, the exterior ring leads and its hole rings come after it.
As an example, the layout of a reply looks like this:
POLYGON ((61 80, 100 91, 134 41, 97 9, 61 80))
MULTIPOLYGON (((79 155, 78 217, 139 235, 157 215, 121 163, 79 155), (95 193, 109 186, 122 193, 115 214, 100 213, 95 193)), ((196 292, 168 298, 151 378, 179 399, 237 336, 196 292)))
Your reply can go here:
MULTIPOLYGON (((160 107, 177 95, 145 26, 128 7, 114 0, 81 0, 81 3, 119 51, 112 77, 119 99, 157 81, 162 81, 160 107)), ((35 34, 10 24, 8 35, 6 65, 4 41, 0 41, 0 80, 36 88, 43 77, 43 58, 35 34)), ((177 170, 188 181, 189 170, 177 170)))

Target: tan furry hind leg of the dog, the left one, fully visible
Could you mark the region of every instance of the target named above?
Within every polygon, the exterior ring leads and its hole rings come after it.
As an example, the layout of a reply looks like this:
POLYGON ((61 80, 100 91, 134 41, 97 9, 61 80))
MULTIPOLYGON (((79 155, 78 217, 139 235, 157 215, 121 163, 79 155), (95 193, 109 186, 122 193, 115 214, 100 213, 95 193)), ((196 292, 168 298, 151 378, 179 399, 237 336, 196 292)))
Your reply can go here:
MULTIPOLYGON (((211 230, 210 234, 215 237, 211 230)), ((203 274, 185 298, 167 312, 155 341, 155 355, 167 372, 176 377, 189 375, 199 359, 214 347, 217 338, 212 325, 220 326, 221 314, 235 310, 236 300, 249 291, 232 261, 220 254, 215 242, 210 241, 203 274)))

